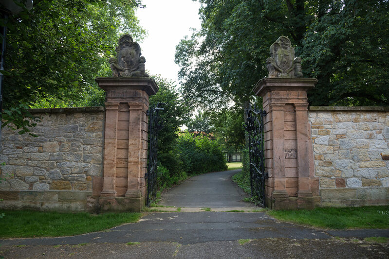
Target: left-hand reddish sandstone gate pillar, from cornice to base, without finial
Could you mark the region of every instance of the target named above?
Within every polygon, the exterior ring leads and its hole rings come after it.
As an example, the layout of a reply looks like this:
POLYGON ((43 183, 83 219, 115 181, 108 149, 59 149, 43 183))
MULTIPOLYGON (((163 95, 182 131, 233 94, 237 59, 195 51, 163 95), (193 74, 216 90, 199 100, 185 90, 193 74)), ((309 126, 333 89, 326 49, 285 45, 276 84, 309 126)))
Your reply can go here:
POLYGON ((146 200, 148 97, 158 91, 149 77, 96 78, 106 91, 101 210, 141 211, 146 200))

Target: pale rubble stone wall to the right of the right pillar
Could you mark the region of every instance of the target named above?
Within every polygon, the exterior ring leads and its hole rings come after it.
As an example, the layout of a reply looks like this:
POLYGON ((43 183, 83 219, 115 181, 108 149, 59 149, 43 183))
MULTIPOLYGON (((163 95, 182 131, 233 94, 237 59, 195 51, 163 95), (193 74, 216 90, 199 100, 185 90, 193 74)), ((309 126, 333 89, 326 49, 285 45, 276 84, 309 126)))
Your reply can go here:
POLYGON ((311 106, 319 206, 387 205, 389 107, 311 106))

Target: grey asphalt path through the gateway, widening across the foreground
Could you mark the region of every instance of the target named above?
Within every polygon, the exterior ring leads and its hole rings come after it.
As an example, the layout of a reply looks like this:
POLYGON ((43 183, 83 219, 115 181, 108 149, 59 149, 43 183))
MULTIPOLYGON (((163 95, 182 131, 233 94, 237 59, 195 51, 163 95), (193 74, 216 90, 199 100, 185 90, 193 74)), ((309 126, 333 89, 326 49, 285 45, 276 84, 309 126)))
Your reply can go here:
POLYGON ((385 229, 324 230, 265 212, 227 212, 254 207, 242 202, 233 173, 190 178, 162 196, 163 205, 176 207, 161 209, 175 211, 146 213, 137 223, 72 237, 0 240, 0 258, 389 258, 389 243, 363 240, 389 238, 385 229))

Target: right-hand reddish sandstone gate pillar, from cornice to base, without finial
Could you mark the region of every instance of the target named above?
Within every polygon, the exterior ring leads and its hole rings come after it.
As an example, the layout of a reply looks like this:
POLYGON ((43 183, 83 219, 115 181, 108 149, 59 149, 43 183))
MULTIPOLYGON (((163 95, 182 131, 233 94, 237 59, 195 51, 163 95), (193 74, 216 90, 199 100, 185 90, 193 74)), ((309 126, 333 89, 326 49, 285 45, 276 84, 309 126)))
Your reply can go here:
POLYGON ((273 209, 313 208, 318 183, 308 122, 307 90, 315 78, 264 78, 253 91, 263 99, 266 204, 273 209))

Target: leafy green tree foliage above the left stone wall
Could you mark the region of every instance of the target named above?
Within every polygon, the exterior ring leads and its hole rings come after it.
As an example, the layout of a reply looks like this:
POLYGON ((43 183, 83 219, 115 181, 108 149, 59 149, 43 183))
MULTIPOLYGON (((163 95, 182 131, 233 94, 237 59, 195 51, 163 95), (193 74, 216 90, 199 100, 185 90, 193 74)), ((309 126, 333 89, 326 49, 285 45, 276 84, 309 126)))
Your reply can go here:
POLYGON ((145 35, 134 15, 139 6, 139 0, 40 0, 11 16, 4 108, 74 106, 95 91, 94 78, 106 71, 119 35, 145 35))

